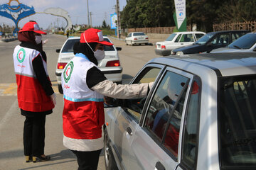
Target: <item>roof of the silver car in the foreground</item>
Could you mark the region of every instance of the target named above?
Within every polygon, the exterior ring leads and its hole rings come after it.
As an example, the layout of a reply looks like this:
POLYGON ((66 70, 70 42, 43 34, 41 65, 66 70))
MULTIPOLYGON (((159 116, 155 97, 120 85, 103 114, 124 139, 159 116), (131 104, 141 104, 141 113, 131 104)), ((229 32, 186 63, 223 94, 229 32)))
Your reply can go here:
POLYGON ((193 72, 194 69, 199 68, 202 69, 201 72, 203 72, 203 67, 207 67, 208 69, 213 69, 215 72, 218 72, 218 76, 256 74, 256 52, 174 55, 155 58, 150 62, 167 64, 172 67, 184 69, 187 72, 193 72))

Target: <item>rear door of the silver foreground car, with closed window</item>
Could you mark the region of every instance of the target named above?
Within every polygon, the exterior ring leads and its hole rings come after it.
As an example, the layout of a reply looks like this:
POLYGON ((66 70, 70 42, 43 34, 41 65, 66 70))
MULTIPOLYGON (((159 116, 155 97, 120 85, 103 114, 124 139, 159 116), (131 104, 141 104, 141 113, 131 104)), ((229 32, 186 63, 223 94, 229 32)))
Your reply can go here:
POLYGON ((183 108, 193 76, 171 67, 161 75, 130 135, 129 169, 176 169, 180 162, 183 108))

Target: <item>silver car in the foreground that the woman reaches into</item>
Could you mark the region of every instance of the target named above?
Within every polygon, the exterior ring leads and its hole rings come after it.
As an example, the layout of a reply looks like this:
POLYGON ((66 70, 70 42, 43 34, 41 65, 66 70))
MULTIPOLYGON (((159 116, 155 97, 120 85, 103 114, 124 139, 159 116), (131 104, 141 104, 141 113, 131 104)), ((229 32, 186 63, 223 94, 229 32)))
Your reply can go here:
POLYGON ((159 57, 105 108, 106 169, 256 169, 256 54, 159 57))

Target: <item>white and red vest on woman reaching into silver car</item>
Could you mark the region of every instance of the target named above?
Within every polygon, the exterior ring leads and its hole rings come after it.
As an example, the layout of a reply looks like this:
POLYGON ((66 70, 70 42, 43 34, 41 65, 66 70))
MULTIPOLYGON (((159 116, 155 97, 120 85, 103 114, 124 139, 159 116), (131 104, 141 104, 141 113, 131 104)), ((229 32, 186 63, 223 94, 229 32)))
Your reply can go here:
MULTIPOLYGON (((94 140, 102 137, 105 123, 102 94, 89 89, 87 71, 97 67, 86 57, 73 57, 63 70, 63 132, 65 137, 94 140)), ((90 81, 90 80, 89 80, 90 81)))

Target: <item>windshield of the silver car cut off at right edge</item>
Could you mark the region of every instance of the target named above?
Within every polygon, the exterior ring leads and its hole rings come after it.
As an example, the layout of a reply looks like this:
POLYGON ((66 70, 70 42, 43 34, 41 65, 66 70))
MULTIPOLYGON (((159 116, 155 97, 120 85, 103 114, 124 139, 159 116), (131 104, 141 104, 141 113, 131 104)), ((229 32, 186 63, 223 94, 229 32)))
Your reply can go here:
POLYGON ((241 38, 238 38, 238 40, 235 40, 230 45, 228 45, 229 48, 238 48, 238 49, 250 49, 252 45, 255 45, 256 43, 256 34, 255 33, 249 33, 246 35, 243 35, 241 38))

